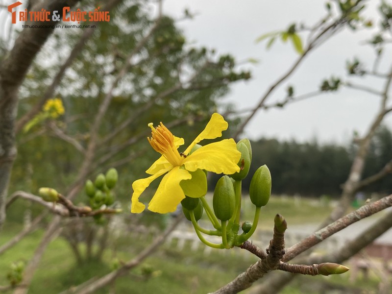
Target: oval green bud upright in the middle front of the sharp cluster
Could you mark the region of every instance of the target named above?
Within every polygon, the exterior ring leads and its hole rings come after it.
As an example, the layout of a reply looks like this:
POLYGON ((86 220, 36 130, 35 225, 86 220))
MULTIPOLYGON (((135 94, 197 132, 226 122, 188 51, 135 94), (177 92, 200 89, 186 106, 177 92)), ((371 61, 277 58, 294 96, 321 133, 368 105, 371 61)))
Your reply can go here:
POLYGON ((216 217, 221 221, 229 220, 234 213, 235 202, 233 184, 230 177, 224 175, 218 180, 212 198, 212 205, 216 217))

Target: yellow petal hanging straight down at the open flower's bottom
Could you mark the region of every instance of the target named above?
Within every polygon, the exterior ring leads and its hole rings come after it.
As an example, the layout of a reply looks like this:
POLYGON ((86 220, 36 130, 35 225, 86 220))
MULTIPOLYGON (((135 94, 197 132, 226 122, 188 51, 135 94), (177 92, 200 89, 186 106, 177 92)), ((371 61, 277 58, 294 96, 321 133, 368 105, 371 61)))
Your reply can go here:
POLYGON ((175 211, 177 205, 185 198, 185 194, 180 187, 182 180, 188 180, 191 174, 179 167, 173 168, 166 174, 155 195, 148 204, 148 210, 158 213, 169 213, 175 211))

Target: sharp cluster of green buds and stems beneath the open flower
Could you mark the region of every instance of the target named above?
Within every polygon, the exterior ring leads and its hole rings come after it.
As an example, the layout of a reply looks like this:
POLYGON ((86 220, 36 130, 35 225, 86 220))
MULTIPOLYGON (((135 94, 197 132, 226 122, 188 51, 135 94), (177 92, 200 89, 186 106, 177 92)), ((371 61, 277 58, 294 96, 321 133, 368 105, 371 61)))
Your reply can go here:
MULTIPOLYGON (((196 146, 194 149, 200 146, 196 146)), ((198 171, 198 174, 192 174, 191 180, 186 180, 181 182, 181 187, 186 195, 181 201, 182 210, 184 212, 187 220, 192 221, 196 233, 200 240, 206 245, 210 245, 215 248, 230 248, 234 245, 241 245, 244 243, 254 232, 257 226, 260 208, 265 206, 271 194, 271 174, 270 170, 266 165, 263 165, 253 174, 250 187, 249 187, 249 197, 255 208, 255 217, 253 222, 245 221, 243 222, 241 229, 242 234, 239 235, 240 230, 240 215, 241 215, 241 183, 242 180, 248 175, 250 170, 250 163, 252 161, 252 147, 248 139, 240 140, 237 143, 237 149, 241 152, 241 158, 238 162, 240 168, 239 172, 235 172, 230 175, 223 175, 217 182, 214 190, 214 195, 212 199, 213 209, 211 209, 204 200, 204 194, 196 192, 201 187, 195 187, 191 183, 192 179, 197 178, 198 183, 203 183, 200 180, 201 174, 204 173, 198 171), (199 177, 199 178, 198 178, 199 177), (203 215, 206 214, 209 220, 212 222, 216 231, 205 230, 201 228, 197 222, 203 215), (221 223, 219 223, 221 221, 221 223), (211 244, 203 237, 200 233, 217 235, 222 237, 222 244, 211 244)), ((192 150, 194 151, 194 150, 192 150)))

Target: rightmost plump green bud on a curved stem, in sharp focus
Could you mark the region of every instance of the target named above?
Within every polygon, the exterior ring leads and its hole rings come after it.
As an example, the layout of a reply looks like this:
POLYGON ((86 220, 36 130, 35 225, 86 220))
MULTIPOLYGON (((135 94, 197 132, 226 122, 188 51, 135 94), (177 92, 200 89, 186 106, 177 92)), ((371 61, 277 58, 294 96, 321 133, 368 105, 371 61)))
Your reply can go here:
POLYGON ((249 197, 256 207, 265 206, 271 195, 271 173, 266 165, 261 166, 253 174, 249 186, 249 197))

